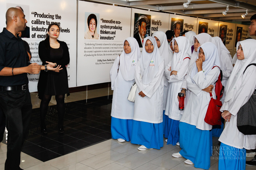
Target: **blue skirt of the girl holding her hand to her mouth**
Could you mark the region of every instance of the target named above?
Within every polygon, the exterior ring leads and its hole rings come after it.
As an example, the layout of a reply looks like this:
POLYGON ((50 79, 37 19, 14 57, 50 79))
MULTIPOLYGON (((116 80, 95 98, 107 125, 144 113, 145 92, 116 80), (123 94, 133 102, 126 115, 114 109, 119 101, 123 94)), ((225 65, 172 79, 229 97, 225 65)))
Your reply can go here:
MULTIPOLYGON (((212 143, 210 131, 180 122, 180 154, 194 163, 195 168, 209 169, 212 143)), ((169 140, 169 139, 168 139, 169 140)))

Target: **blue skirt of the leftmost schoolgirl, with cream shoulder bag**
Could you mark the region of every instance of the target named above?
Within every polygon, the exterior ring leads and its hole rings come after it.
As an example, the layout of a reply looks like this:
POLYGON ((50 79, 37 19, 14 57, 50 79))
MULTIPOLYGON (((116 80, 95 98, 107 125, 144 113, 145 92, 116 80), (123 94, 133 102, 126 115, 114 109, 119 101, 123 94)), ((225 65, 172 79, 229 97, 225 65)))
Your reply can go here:
POLYGON ((112 139, 131 140, 133 120, 132 119, 118 119, 111 117, 111 135, 112 139))

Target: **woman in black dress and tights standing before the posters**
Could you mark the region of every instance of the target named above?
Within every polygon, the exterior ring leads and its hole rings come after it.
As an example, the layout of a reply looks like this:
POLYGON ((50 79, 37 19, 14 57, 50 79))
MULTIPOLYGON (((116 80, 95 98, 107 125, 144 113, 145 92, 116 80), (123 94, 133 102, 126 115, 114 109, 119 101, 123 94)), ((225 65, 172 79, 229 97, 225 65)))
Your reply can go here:
POLYGON ((60 26, 58 24, 50 24, 48 27, 48 36, 39 43, 39 57, 42 65, 52 64, 61 65, 62 70, 59 72, 41 71, 38 81, 38 97, 41 99, 40 117, 41 132, 47 134, 45 125, 45 116, 48 111, 50 99, 55 95, 58 110, 58 129, 59 133, 64 133, 63 117, 65 113, 65 94, 69 95, 68 90, 68 74, 66 65, 69 64, 68 46, 65 42, 57 40, 60 34, 60 26))

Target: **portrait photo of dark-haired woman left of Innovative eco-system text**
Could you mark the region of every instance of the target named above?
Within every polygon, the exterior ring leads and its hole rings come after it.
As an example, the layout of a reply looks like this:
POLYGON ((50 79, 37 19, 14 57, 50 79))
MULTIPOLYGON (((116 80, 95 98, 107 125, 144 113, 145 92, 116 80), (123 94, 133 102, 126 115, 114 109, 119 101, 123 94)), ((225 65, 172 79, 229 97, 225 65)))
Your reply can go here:
POLYGON ((99 39, 99 17, 100 14, 85 12, 85 39, 99 39))

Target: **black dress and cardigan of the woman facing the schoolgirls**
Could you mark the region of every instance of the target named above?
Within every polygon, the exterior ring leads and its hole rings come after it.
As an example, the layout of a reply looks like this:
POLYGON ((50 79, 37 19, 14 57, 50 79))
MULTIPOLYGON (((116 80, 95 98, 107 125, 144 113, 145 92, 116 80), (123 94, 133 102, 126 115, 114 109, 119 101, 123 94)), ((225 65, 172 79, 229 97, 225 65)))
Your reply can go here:
MULTIPOLYGON (((49 40, 48 40, 49 42, 49 40)), ((39 57, 42 60, 42 65, 47 64, 46 61, 56 62, 57 65, 61 65, 62 70, 60 72, 42 70, 40 72, 38 81, 38 97, 42 99, 43 95, 62 95, 68 94, 68 75, 66 65, 69 64, 69 52, 68 46, 65 42, 60 43, 58 49, 53 49, 49 46, 47 48, 47 40, 43 40, 39 43, 39 57)))

